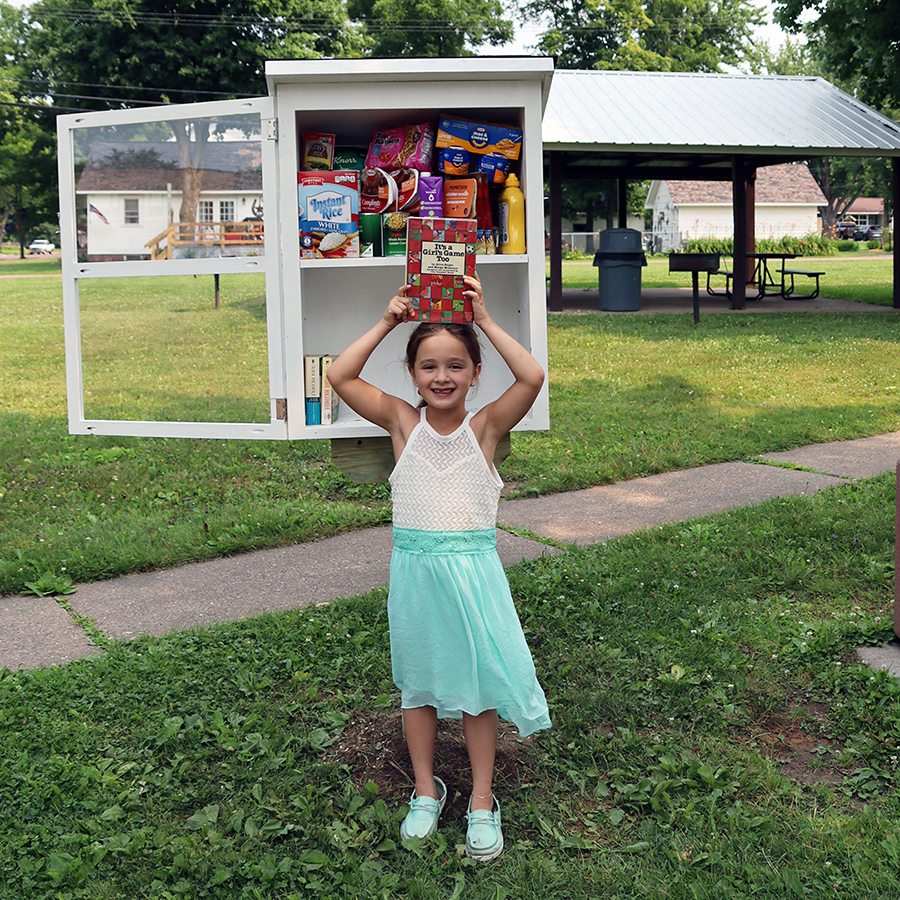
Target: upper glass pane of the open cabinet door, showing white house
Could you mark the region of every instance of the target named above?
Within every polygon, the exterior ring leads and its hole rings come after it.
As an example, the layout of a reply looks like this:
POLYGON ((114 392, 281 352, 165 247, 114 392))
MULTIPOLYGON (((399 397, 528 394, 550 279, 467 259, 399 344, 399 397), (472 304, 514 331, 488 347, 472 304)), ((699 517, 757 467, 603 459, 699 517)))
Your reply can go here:
POLYGON ((263 254, 259 115, 82 128, 74 136, 81 262, 263 254))

